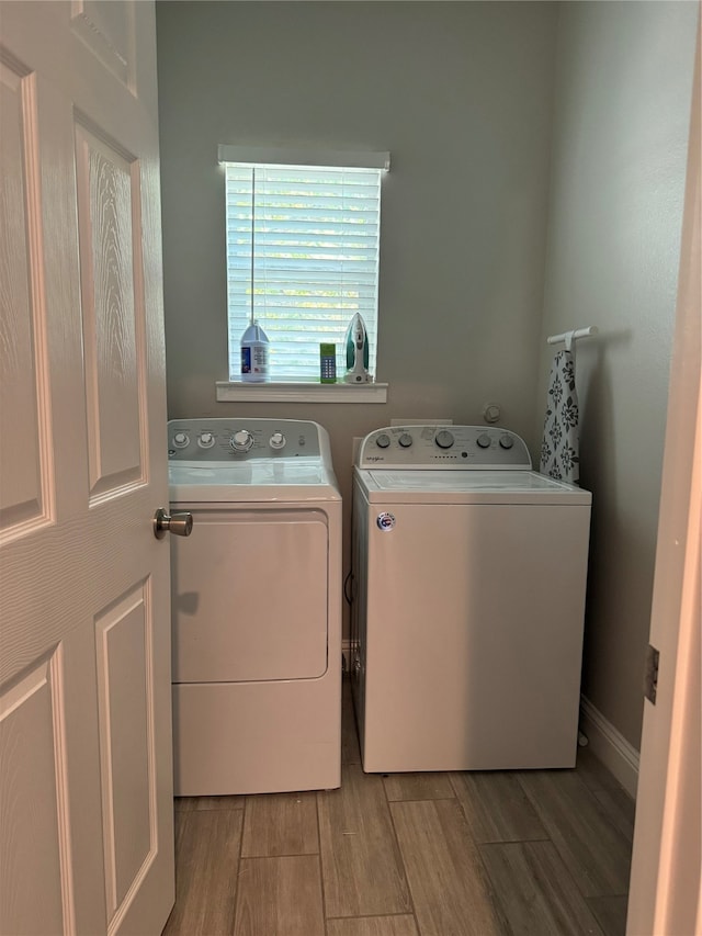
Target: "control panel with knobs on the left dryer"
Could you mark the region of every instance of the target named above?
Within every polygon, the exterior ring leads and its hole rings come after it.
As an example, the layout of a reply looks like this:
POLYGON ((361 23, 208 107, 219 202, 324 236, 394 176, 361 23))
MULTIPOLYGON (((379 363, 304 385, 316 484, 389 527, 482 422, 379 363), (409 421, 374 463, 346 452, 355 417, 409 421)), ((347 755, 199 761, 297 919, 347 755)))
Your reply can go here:
POLYGON ((303 419, 171 419, 170 461, 319 456, 319 426, 303 419))

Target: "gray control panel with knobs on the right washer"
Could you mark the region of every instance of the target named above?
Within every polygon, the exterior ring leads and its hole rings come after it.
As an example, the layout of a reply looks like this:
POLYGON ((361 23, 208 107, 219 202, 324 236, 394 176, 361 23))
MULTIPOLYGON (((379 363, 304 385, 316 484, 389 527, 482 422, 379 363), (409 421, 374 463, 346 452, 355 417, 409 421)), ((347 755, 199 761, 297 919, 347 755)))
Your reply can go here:
POLYGON ((363 439, 356 465, 531 471, 531 456, 520 436, 494 426, 390 426, 363 439))

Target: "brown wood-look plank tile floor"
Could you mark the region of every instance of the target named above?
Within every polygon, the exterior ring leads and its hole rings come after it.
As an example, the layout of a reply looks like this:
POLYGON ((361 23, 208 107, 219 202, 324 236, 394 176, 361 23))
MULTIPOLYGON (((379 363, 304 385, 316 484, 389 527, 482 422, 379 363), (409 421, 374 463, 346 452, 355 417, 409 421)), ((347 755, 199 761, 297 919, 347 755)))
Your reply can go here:
POLYGON ((339 790, 176 800, 166 936, 621 936, 634 803, 575 770, 364 774, 344 683, 339 790))

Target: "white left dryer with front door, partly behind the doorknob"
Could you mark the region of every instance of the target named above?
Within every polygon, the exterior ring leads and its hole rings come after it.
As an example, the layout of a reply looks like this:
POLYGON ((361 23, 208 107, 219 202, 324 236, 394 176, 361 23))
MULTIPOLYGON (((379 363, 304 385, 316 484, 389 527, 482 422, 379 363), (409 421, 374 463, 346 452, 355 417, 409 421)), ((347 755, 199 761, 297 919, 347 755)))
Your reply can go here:
POLYGON ((168 424, 176 796, 341 782, 341 496, 290 419, 168 424))

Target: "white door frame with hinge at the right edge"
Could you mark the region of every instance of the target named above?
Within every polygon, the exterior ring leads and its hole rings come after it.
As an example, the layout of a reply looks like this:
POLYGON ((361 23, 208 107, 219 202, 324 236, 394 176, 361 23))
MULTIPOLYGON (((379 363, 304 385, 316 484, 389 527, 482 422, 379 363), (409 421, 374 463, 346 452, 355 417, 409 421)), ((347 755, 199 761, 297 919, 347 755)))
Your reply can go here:
POLYGON ((650 623, 660 668, 656 704, 644 703, 631 936, 702 934, 700 36, 650 623))

